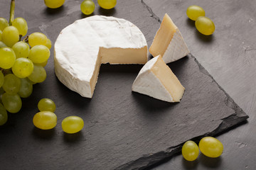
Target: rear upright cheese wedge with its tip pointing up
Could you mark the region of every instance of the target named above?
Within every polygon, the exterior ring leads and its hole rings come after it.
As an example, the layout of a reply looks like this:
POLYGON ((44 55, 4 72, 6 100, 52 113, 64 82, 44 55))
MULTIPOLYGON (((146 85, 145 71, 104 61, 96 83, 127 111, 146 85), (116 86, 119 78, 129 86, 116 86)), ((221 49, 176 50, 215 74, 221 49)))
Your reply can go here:
POLYGON ((188 55, 189 50, 183 40, 181 32, 168 14, 164 15, 159 30, 149 48, 154 57, 161 55, 164 62, 174 62, 188 55))

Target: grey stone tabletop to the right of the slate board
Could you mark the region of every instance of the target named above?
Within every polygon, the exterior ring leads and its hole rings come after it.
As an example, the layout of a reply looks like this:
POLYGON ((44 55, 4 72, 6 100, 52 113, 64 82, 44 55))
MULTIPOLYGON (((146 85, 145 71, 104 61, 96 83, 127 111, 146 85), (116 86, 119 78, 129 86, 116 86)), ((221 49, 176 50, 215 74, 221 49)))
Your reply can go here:
POLYGON ((218 164, 198 158, 184 164, 181 155, 155 169, 256 169, 256 3, 245 0, 142 0, 155 18, 168 13, 181 30, 191 53, 250 118, 248 123, 218 136, 224 152, 218 164), (198 5, 215 23, 215 33, 198 33, 186 16, 186 8, 198 5), (187 166, 188 165, 188 166, 187 166), (189 166, 193 165, 193 166, 189 166))

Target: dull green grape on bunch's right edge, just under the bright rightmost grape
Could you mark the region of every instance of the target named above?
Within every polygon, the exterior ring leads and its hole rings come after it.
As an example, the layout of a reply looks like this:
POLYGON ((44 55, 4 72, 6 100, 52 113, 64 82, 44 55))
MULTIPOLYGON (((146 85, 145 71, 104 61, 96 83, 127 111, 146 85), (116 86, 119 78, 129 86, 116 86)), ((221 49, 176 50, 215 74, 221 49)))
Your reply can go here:
POLYGON ((28 79, 31 80, 34 83, 41 83, 46 80, 46 69, 44 69, 42 66, 34 65, 33 72, 30 76, 28 76, 28 79))

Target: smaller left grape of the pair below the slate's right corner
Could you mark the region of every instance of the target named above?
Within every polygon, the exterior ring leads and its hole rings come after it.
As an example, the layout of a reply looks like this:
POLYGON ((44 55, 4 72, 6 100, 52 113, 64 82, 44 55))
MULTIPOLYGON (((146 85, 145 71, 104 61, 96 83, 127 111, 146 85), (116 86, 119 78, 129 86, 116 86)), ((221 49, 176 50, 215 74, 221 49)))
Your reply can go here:
POLYGON ((198 157, 199 149, 195 142, 188 140, 184 143, 182 149, 182 156, 187 161, 194 161, 198 157))

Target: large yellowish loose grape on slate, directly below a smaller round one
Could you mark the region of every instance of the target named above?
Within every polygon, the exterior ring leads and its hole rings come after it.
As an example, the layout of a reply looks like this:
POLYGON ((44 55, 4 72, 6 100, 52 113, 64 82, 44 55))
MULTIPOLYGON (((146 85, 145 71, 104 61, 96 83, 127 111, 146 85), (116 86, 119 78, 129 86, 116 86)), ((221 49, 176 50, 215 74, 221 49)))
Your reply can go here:
POLYGON ((57 116, 50 111, 42 111, 33 116, 33 124, 41 130, 50 130, 57 125, 57 116))

